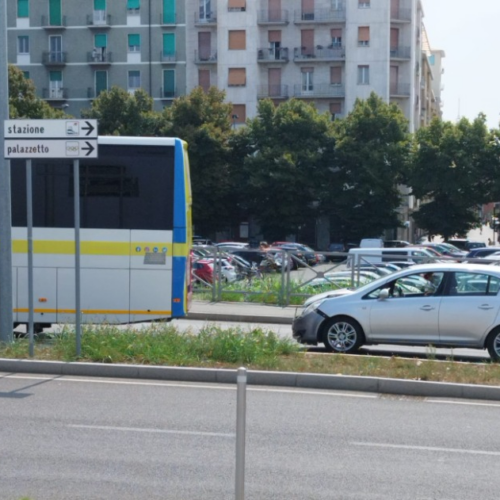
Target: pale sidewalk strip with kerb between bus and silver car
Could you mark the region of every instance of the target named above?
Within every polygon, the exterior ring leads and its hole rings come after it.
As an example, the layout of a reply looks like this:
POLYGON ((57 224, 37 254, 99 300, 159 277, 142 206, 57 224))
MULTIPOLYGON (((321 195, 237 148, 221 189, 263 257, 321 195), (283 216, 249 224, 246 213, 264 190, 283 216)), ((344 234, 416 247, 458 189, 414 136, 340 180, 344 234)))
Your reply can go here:
POLYGON ((295 306, 280 307, 251 302, 205 302, 193 300, 188 319, 203 321, 236 321, 291 325, 295 306))

